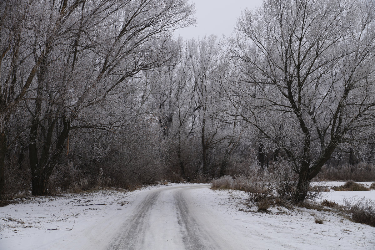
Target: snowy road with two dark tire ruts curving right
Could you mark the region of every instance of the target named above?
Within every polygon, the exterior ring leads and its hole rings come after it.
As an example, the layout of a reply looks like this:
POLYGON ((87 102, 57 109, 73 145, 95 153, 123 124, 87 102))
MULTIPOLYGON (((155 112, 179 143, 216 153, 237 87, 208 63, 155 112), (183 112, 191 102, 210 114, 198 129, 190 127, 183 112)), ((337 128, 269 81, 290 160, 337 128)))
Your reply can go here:
POLYGON ((231 249, 226 235, 217 235, 214 209, 201 206, 193 191, 208 185, 146 191, 120 227, 108 249, 231 249))

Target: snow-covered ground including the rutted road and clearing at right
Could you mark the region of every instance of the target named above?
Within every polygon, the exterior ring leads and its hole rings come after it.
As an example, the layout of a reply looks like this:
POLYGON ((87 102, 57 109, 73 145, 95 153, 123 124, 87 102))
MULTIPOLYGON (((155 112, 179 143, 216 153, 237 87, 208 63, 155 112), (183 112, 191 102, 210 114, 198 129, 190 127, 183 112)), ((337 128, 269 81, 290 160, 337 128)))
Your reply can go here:
MULTIPOLYGON (((0 249, 375 249, 375 227, 343 215, 299 207, 259 213, 244 204, 243 192, 209 187, 23 198, 0 208, 0 249)), ((331 190, 319 199, 342 203, 353 196, 375 200, 375 190, 331 190)))

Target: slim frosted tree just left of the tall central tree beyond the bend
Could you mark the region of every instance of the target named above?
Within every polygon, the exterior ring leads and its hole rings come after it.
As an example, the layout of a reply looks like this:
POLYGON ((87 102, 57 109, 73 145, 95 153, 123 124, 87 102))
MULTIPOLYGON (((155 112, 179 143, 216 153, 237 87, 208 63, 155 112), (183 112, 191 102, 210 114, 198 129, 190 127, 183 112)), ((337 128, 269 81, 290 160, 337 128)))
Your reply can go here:
POLYGON ((152 93, 151 110, 158 117, 163 136, 170 144, 170 153, 177 153, 179 170, 185 178, 182 144, 192 131, 191 128, 195 127, 195 122, 191 120, 195 93, 189 53, 180 39, 178 46, 180 53, 175 58, 175 65, 158 71, 153 77, 157 83, 152 93))

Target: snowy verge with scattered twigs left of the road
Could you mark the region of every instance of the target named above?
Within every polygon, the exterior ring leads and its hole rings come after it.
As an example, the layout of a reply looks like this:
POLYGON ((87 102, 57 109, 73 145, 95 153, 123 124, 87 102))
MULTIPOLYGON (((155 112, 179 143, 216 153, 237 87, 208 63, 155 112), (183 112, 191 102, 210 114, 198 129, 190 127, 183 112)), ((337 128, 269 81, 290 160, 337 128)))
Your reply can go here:
MULTIPOLYGON (((122 208, 120 204, 124 203, 126 197, 126 193, 98 191, 59 197, 33 197, 0 208, 2 226, 5 228, 0 233, 1 249, 32 249, 29 246, 37 245, 41 249, 53 249, 50 247, 53 244, 69 244, 69 239, 77 232, 100 235, 101 227, 108 224, 103 218, 108 220, 118 215, 118 209, 122 208), (79 206, 91 203, 107 205, 79 206), (100 226, 96 227, 98 224, 100 226)), ((84 241, 78 243, 76 249, 84 241)))

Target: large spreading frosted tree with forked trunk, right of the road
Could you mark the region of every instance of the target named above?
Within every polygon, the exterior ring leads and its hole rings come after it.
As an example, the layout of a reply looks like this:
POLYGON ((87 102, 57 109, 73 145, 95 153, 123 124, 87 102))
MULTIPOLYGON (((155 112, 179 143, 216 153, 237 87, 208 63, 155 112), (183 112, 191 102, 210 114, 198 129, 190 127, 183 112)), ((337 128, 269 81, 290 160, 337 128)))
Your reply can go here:
POLYGON ((374 140, 374 27, 373 1, 265 0, 230 39, 228 95, 293 163, 297 202, 333 152, 374 140))

